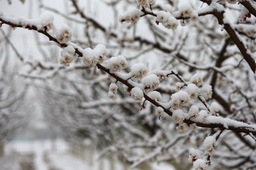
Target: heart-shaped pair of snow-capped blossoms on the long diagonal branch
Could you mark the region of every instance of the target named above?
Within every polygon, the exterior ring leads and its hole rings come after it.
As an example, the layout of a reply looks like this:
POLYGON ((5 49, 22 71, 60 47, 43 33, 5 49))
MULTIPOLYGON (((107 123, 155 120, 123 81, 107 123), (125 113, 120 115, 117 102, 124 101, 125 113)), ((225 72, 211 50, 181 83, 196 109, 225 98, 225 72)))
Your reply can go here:
POLYGON ((93 67, 97 63, 102 63, 108 55, 105 45, 98 44, 93 50, 91 48, 86 48, 83 51, 82 61, 88 67, 93 67))

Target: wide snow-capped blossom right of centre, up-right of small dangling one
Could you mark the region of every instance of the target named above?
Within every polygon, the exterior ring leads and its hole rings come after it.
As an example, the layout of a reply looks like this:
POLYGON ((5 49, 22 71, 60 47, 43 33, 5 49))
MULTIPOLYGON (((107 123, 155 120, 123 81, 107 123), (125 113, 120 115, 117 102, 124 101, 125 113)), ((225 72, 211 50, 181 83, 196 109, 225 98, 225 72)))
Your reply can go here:
POLYGON ((171 105, 174 110, 182 108, 183 106, 187 106, 189 103, 189 94, 184 91, 179 91, 171 96, 171 105))

